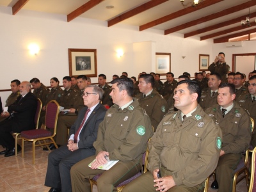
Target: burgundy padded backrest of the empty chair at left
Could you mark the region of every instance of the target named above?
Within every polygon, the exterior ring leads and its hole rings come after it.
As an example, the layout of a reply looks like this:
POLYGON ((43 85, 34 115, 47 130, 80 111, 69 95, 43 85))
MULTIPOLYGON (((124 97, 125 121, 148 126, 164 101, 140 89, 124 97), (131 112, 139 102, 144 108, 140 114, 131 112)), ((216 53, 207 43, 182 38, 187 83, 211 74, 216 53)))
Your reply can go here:
POLYGON ((58 102, 56 102, 56 100, 50 100, 46 106, 45 127, 48 129, 54 129, 54 134, 56 134, 56 125, 59 112, 60 105, 58 102))

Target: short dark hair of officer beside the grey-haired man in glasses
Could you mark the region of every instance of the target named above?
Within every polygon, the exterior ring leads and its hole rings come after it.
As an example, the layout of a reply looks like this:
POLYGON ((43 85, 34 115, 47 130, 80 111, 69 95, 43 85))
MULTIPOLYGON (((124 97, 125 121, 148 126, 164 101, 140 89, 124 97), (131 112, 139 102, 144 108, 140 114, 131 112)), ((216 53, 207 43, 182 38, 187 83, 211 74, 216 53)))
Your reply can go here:
POLYGON ((117 78, 117 79, 114 79, 113 81, 111 81, 110 83, 111 84, 117 83, 116 86, 119 88, 120 91, 126 90, 127 95, 132 97, 133 92, 134 92, 134 84, 132 82, 132 79, 130 79, 128 77, 117 78))

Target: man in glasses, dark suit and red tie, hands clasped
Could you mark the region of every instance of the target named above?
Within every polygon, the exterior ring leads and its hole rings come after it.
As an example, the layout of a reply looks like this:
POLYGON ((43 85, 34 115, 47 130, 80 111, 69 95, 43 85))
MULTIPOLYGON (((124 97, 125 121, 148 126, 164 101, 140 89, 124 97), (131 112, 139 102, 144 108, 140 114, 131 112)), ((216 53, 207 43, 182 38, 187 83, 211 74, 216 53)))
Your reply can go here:
POLYGON ((85 88, 83 101, 86 107, 79 111, 76 122, 70 128, 68 145, 63 145, 48 156, 45 186, 51 187, 49 191, 72 191, 71 166, 95 155, 93 142, 107 111, 100 104, 102 95, 103 90, 99 86, 90 85, 85 88))

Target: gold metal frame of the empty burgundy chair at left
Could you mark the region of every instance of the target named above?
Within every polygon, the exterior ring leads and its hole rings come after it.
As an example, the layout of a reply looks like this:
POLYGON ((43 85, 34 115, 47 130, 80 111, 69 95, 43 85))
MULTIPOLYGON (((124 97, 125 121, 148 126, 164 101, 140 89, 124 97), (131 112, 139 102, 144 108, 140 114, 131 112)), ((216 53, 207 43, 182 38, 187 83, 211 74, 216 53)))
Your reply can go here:
MULTIPOLYGON (((54 122, 54 132, 53 132, 53 134, 52 134, 51 136, 48 136, 48 137, 36 138, 36 139, 31 139, 31 140, 28 139, 28 138, 21 137, 21 140, 22 140, 22 147, 21 147, 21 148, 22 148, 22 153, 21 153, 21 157, 22 157, 22 158, 24 158, 24 140, 25 140, 25 141, 33 141, 33 164, 35 164, 35 147, 42 146, 42 145, 46 145, 47 148, 48 148, 48 150, 51 151, 50 148, 48 147, 48 145, 53 143, 54 146, 55 146, 56 148, 58 148, 58 145, 55 143, 53 137, 56 135, 57 122, 58 122, 58 115, 59 115, 59 113, 60 113, 60 105, 58 104, 58 102, 56 102, 56 100, 50 100, 50 101, 48 102, 48 104, 49 104, 50 102, 54 102, 54 103, 56 104, 56 106, 57 106, 56 117, 55 117, 55 122, 54 122), (46 142, 45 140, 47 140, 47 139, 50 139, 51 141, 46 142), (44 143, 41 143, 40 140, 44 141, 44 143), (39 143, 38 145, 35 145, 36 141, 38 141, 38 143, 39 143)), ((47 106, 48 106, 48 104, 47 104, 47 106)), ((47 106, 46 106, 46 113, 47 113, 47 106)), ((45 116, 47 116, 47 115, 45 114, 45 116)), ((46 118, 45 118, 45 122, 46 122, 46 118)), ((44 124, 44 129, 46 129, 46 125, 45 125, 45 124, 44 124)))

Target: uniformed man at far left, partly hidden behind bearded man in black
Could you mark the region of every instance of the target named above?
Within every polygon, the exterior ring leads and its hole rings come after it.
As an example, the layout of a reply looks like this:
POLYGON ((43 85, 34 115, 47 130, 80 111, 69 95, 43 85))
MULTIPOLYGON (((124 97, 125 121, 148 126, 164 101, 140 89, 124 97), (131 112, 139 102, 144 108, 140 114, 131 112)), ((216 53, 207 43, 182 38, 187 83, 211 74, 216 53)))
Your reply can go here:
MULTIPOLYGON (((11 95, 9 95, 9 97, 6 99, 5 102, 5 106, 8 107, 11 104, 13 104, 13 102, 15 102, 15 100, 17 99, 17 97, 19 97, 20 95, 20 90, 19 90, 19 86, 20 86, 20 81, 18 79, 14 79, 13 81, 11 81, 11 90, 12 93, 11 95)), ((0 122, 2 122, 3 120, 5 120, 6 118, 8 118, 10 116, 10 113, 8 113, 8 111, 1 111, 1 116, 0 116, 0 122)))

